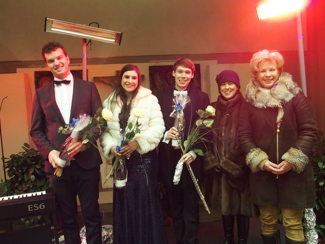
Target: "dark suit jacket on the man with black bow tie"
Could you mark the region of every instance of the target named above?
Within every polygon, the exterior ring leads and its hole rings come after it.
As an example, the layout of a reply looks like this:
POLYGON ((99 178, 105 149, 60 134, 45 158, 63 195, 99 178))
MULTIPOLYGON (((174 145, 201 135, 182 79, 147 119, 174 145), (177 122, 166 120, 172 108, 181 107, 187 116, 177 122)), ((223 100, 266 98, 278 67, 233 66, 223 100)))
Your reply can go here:
MULTIPOLYGON (((98 90, 93 82, 74 78, 73 98, 70 114, 70 122, 77 118, 80 112, 93 116, 102 102, 98 90)), ((48 154, 51 150, 60 150, 61 145, 69 135, 58 133, 60 126, 64 126, 64 120, 56 104, 54 95, 54 83, 38 88, 32 102, 30 136, 40 154, 46 160, 45 172, 53 173, 54 168, 48 162, 48 154)), ((102 163, 99 150, 93 145, 74 156, 76 162, 84 169, 91 169, 102 163)))

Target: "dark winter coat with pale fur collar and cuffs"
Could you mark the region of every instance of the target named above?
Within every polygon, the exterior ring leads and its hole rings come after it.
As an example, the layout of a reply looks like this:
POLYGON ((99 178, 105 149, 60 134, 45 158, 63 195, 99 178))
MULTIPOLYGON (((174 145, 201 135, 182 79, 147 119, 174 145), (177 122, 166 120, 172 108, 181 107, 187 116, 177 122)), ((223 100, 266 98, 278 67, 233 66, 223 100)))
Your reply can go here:
POLYGON ((282 73, 271 89, 252 78, 246 87, 246 100, 239 121, 239 141, 251 169, 252 202, 313 207, 315 182, 308 156, 317 128, 309 101, 288 73, 282 73), (277 178, 262 169, 260 163, 266 159, 275 164, 286 160, 293 169, 277 178))

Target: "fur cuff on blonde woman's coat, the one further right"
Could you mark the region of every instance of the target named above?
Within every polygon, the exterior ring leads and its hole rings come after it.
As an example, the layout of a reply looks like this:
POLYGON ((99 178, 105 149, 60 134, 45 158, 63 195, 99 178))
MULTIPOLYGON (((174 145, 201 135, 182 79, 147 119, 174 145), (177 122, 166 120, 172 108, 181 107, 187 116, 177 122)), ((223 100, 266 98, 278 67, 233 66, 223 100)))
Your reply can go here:
POLYGON ((303 172, 309 162, 308 157, 299 149, 291 147, 283 156, 283 160, 288 161, 297 173, 303 172))

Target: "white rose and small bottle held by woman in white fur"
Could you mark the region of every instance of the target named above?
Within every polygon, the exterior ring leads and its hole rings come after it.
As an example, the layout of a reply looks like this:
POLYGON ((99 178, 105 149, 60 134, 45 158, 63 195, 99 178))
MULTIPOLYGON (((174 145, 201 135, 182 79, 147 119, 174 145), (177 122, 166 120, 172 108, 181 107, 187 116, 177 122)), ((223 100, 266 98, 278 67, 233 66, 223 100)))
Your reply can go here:
MULTIPOLYGON (((125 146, 128 142, 132 141, 136 134, 141 132, 142 124, 139 123, 139 118, 144 117, 144 112, 141 109, 137 109, 135 111, 135 118, 136 121, 131 121, 128 123, 125 131, 122 129, 120 130, 120 141, 121 143, 116 146, 116 150, 123 146, 125 146)), ((126 178, 127 178, 127 169, 125 165, 125 156, 122 157, 115 157, 114 163, 112 165, 111 170, 106 175, 106 180, 110 177, 110 175, 114 172, 114 184, 117 188, 123 188, 126 185, 126 178)), ((104 184, 105 184, 104 182, 104 184)))

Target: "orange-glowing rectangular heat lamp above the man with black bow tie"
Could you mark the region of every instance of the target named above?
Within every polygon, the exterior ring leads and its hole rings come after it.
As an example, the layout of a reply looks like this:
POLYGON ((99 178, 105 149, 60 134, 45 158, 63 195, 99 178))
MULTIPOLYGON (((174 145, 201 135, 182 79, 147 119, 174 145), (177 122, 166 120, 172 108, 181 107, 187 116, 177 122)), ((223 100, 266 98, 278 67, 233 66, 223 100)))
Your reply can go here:
POLYGON ((82 24, 75 24, 50 18, 45 18, 44 31, 75 37, 82 37, 85 39, 97 40, 118 45, 121 44, 122 39, 121 32, 108 31, 107 29, 101 29, 82 24))

